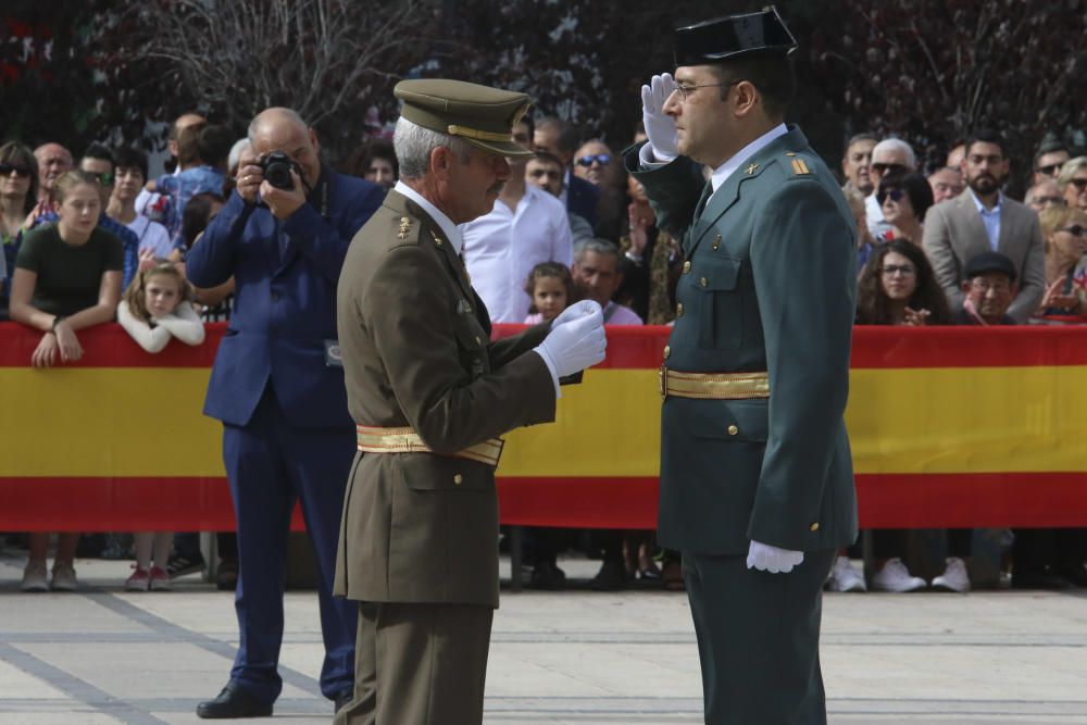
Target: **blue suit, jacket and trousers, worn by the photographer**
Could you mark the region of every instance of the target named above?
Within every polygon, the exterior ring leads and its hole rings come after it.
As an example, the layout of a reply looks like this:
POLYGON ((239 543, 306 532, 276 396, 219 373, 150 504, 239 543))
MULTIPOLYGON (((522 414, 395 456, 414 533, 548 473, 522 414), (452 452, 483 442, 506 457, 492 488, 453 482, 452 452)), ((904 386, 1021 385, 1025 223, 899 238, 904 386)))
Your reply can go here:
POLYGON ((348 245, 384 191, 327 168, 286 222, 236 192, 188 257, 197 287, 235 279, 234 312, 212 367, 204 413, 223 422, 223 461, 238 525, 230 679, 263 702, 283 688, 284 553, 301 500, 320 570, 321 690, 354 686, 357 611, 332 598, 343 490, 355 452, 336 338, 336 283, 348 245))

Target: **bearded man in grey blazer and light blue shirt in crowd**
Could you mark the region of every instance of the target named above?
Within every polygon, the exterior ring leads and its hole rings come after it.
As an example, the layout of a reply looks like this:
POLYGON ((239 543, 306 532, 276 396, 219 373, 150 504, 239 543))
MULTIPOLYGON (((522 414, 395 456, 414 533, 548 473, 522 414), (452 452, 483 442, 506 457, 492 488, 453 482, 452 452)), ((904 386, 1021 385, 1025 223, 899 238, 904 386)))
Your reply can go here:
POLYGON ((962 283, 969 260, 1000 252, 1015 265, 1021 280, 1008 314, 1023 323, 1046 291, 1046 248, 1038 215, 1000 190, 1008 178, 1003 141, 992 130, 979 130, 966 142, 962 162, 966 190, 925 216, 922 246, 952 309, 962 307, 962 283))

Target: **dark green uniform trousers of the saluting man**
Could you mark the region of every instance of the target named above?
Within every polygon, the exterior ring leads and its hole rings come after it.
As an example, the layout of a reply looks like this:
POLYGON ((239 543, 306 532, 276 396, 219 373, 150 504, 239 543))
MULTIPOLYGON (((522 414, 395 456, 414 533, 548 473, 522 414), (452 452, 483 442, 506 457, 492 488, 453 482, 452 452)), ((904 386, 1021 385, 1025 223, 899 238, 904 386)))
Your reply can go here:
POLYGON ((770 574, 747 557, 683 552, 708 725, 826 723, 819 630, 834 555, 808 551, 770 574))

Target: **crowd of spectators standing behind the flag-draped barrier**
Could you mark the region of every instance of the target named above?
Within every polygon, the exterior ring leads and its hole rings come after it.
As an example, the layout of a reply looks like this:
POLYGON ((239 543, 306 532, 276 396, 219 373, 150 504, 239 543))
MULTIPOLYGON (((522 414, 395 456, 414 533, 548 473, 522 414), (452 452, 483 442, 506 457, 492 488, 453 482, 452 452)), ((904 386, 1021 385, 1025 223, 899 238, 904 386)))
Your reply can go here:
MULTIPOLYGON (((592 299, 609 325, 667 325, 677 314, 679 240, 657 227, 645 191, 603 140, 553 117, 525 117, 514 139, 535 151, 511 160, 511 178, 491 212, 463 227, 463 258, 493 322, 550 320, 592 299)), ((644 140, 639 129, 633 140, 644 140)), ((246 138, 185 114, 171 127, 171 173, 149 177, 136 149, 90 143, 76 162, 47 142, 32 151, 0 146, 0 310, 41 333, 28 363, 78 360, 78 332, 118 320, 147 351, 171 339, 199 345, 202 322, 229 317, 233 279, 195 288, 185 261, 211 218, 235 193, 246 138)), ((626 143, 622 143, 625 146, 626 143)), ((999 134, 978 130, 921 168, 902 139, 859 134, 841 159, 842 191, 858 226, 857 323, 865 325, 1061 324, 1087 321, 1087 155, 1055 141, 1038 148, 1020 202, 1007 191, 1010 164, 999 134)), ((383 139, 359 147, 342 171, 385 189, 398 162, 383 139)), ((682 313, 682 312, 680 312, 682 313)), ((1019 534, 1019 533, 1017 533, 1019 534)), ((828 588, 969 590, 970 530, 948 532, 946 571, 932 580, 903 563, 901 533, 873 532, 865 577, 840 552, 828 588)), ((75 587, 76 535, 62 535, 47 579, 47 535, 29 537, 23 588, 75 587)), ((1060 545, 1016 536, 1014 586, 1087 586, 1082 537, 1060 545), (1047 549, 1048 547, 1048 549, 1047 549), (1046 549, 1048 553, 1041 550, 1046 549), (1052 550, 1052 551, 1050 551, 1052 550)), ((599 588, 637 578, 682 587, 678 562, 654 561, 652 533, 598 533, 582 545, 602 560, 599 588)), ((555 554, 577 541, 566 533, 526 537, 532 583, 564 586, 555 554)), ((229 550, 229 543, 223 548, 229 550)), ((855 553, 855 552, 854 552, 855 553)), ((203 565, 195 537, 136 537, 132 589, 168 588, 170 576, 203 565), (173 553, 170 554, 171 548, 173 553), (171 561, 167 562, 167 555, 171 561)), ((229 574, 229 564, 225 567, 229 574)), ((227 577, 229 578, 229 577, 227 577)), ((227 586, 233 586, 227 582, 227 586)))

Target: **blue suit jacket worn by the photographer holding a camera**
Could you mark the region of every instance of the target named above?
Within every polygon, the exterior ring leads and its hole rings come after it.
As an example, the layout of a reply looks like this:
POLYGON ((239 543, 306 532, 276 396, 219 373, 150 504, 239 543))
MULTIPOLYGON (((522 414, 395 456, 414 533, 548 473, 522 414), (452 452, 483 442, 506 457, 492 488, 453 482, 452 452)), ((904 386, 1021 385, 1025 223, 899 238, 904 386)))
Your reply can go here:
MULTIPOLYGON (((271 379, 300 427, 352 425, 343 368, 326 364, 336 339, 336 282, 354 234, 380 207, 374 184, 323 172, 327 220, 305 203, 286 222, 247 205, 235 191, 188 257, 197 287, 235 279, 234 311, 215 355, 204 414, 246 425, 271 379), (278 237, 287 238, 280 260, 278 237)), ((314 191, 317 204, 320 188, 314 191)))

